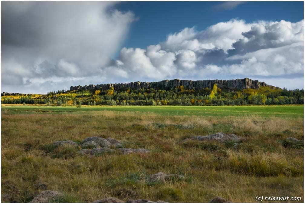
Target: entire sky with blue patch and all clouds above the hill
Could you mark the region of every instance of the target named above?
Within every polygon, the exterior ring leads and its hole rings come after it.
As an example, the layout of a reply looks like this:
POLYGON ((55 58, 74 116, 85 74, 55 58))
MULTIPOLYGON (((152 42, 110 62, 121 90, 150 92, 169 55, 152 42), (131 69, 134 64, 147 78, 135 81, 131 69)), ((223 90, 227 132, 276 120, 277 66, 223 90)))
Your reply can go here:
POLYGON ((251 78, 303 88, 303 2, 2 2, 1 91, 251 78))

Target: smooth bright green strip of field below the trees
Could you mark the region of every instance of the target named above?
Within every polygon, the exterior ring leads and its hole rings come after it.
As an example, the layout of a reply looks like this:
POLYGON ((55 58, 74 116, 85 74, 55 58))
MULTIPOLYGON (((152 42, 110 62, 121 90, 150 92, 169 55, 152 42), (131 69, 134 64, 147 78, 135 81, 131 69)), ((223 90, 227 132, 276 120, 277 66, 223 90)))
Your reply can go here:
POLYGON ((168 116, 262 116, 303 117, 303 105, 283 106, 2 106, 10 113, 87 113, 88 111, 156 113, 168 116))

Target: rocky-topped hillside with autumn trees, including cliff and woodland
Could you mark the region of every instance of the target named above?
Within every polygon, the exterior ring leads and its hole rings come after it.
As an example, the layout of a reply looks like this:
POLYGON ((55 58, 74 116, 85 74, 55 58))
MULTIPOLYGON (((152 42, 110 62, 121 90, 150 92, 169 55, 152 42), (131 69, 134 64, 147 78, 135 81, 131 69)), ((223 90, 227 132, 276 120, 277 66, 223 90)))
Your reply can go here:
POLYGON ((4 104, 81 105, 277 105, 303 104, 302 90, 286 90, 258 80, 163 80, 71 86, 46 95, 2 93, 4 104))

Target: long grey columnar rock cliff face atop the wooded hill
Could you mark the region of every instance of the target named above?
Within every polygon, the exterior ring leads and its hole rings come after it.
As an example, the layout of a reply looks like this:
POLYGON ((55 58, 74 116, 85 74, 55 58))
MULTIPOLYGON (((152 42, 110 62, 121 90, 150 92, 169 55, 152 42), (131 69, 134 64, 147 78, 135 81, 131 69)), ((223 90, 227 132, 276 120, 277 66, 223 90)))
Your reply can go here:
POLYGON ((213 85, 217 84, 219 88, 229 88, 229 89, 246 89, 246 88, 253 88, 259 89, 260 87, 271 87, 275 88, 274 86, 268 85, 265 82, 260 82, 258 80, 252 80, 248 78, 244 79, 232 79, 232 80, 163 80, 158 82, 130 82, 128 84, 98 84, 98 85, 86 85, 86 86, 71 86, 70 91, 73 90, 87 90, 87 89, 100 89, 103 90, 109 89, 113 87, 114 89, 120 88, 131 88, 131 89, 140 89, 140 88, 155 88, 155 89, 171 89, 175 88, 176 86, 184 86, 188 89, 202 89, 202 88, 213 88, 213 85))

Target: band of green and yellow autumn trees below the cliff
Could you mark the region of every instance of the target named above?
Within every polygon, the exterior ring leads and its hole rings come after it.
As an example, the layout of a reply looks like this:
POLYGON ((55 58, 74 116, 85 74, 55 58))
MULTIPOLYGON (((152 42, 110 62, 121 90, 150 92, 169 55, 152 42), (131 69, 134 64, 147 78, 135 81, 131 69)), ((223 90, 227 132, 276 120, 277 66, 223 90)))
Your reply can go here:
POLYGON ((58 90, 48 92, 40 98, 21 96, 20 98, 2 97, 2 103, 8 104, 48 104, 48 105, 282 105, 303 104, 303 89, 287 90, 286 88, 229 90, 213 88, 188 89, 177 86, 170 90, 163 89, 130 89, 121 90, 58 90))

